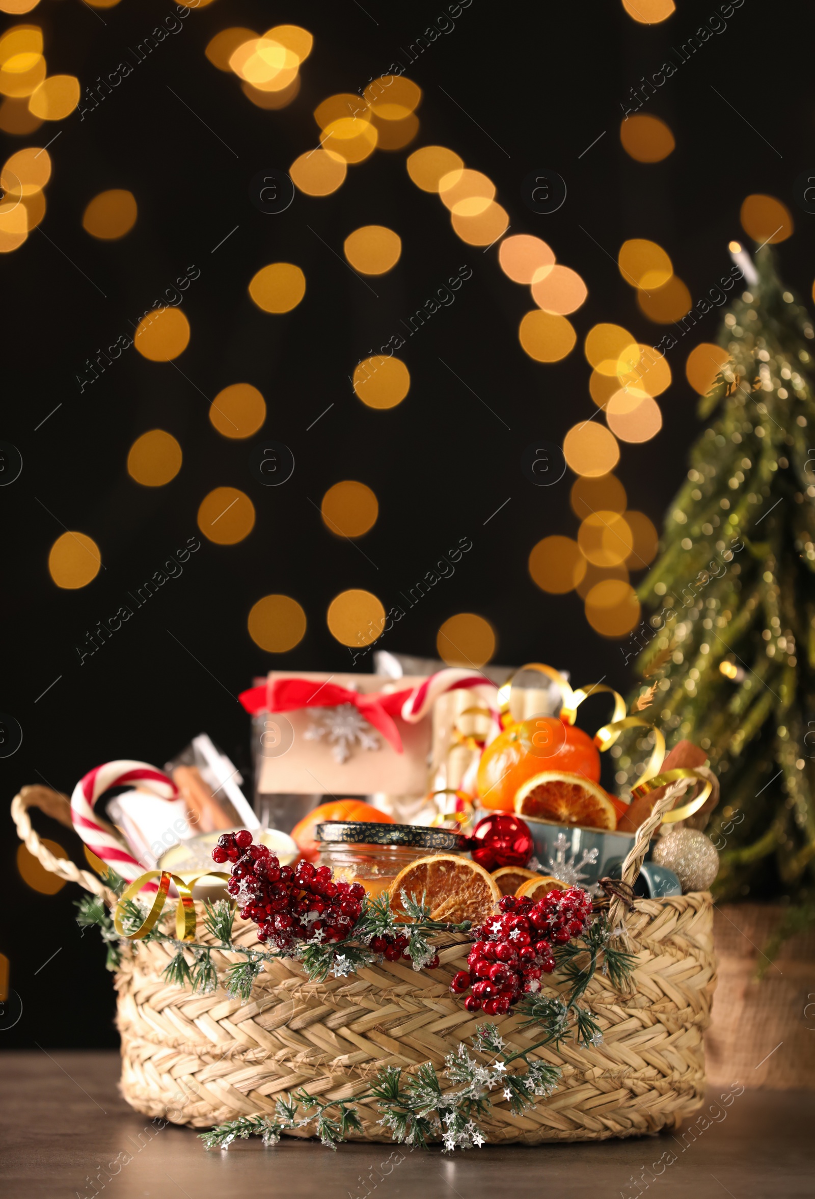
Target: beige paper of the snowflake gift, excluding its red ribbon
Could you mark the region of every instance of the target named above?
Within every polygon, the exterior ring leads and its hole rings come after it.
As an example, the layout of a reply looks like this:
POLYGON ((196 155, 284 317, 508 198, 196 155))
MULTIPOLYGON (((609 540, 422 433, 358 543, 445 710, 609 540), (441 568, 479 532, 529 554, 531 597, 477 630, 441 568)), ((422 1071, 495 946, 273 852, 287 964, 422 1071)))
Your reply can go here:
MULTIPOLYGON (((326 674, 304 670, 271 670, 268 682, 302 679, 356 691, 360 694, 410 691, 424 682, 422 676, 388 679, 384 675, 326 674)), ((261 725, 279 725, 266 737, 267 746, 258 749, 259 793, 283 795, 424 795, 428 788, 431 719, 428 715, 417 724, 393 717, 403 752, 388 745, 361 713, 349 705, 340 707, 300 707, 290 712, 270 712, 261 725), (285 722, 291 731, 286 729, 285 722), (282 735, 283 734, 283 735, 282 735), (288 735, 286 735, 288 734, 288 735), (294 734, 294 737, 291 736, 294 734), (346 754, 344 761, 338 760, 346 754)), ((262 733, 262 728, 261 728, 262 733)), ((262 742, 261 737, 261 742, 262 742)))

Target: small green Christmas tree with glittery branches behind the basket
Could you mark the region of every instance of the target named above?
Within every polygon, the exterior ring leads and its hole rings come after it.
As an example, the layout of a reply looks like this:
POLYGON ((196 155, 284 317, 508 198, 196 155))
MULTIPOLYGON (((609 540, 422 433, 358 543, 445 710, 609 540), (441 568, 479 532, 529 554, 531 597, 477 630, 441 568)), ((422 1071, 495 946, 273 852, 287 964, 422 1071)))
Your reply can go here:
MULTIPOLYGON (((791 930, 815 915, 815 333, 769 247, 755 264, 640 586, 654 614, 636 669, 669 746, 693 740, 719 775, 718 897, 787 896, 791 930)), ((623 752, 620 782, 635 783, 645 749, 623 752)))

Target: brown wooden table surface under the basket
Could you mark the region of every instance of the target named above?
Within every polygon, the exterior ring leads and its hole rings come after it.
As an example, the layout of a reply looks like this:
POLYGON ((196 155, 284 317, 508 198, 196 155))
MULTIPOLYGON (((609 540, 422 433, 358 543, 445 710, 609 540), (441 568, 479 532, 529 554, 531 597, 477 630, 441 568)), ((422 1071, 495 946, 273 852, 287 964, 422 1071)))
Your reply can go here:
MULTIPOLYGON (((718 1122, 696 1119, 693 1134, 686 1126, 599 1144, 454 1155, 352 1144, 333 1153, 284 1138, 273 1149, 253 1139, 207 1152, 191 1129, 158 1128, 133 1111, 117 1076, 111 1052, 0 1056, 4 1199, 633 1199, 646 1187, 663 1199, 815 1194, 815 1092, 744 1091, 717 1108, 718 1122)), ((718 1089, 708 1095, 718 1098, 718 1089)))

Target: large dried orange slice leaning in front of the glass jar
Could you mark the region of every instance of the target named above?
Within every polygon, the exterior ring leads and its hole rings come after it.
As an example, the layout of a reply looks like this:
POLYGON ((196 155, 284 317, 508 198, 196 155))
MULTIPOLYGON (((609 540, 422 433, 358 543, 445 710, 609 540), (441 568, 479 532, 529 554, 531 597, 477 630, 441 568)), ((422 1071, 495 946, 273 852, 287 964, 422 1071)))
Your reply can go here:
POLYGON ((483 924, 491 916, 501 891, 491 874, 457 854, 433 854, 418 857, 400 870, 388 888, 391 910, 397 918, 408 920, 402 903, 402 892, 430 909, 434 920, 448 920, 458 924, 470 920, 483 924))

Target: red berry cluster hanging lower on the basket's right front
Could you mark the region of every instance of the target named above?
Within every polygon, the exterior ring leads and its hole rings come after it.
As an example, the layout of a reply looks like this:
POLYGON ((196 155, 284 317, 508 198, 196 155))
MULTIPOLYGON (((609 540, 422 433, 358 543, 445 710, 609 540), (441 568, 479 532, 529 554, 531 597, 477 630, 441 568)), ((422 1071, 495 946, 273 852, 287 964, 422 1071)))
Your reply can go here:
POLYGON ((476 929, 467 957, 470 972, 459 970, 449 989, 463 995, 467 1012, 506 1016, 524 992, 541 989, 541 976, 555 969, 553 945, 579 936, 591 916, 591 898, 581 887, 550 891, 532 903, 525 897, 503 896, 501 915, 476 929))

